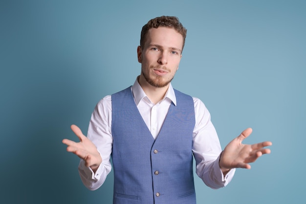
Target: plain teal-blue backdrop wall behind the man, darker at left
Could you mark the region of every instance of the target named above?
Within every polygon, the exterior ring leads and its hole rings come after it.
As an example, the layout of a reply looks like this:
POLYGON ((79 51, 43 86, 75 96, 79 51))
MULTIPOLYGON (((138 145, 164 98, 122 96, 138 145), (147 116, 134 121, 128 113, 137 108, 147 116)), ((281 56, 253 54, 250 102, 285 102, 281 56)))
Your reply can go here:
POLYGON ((1 0, 1 203, 112 203, 112 172, 87 190, 62 139, 133 84, 141 27, 161 15, 188 29, 173 86, 206 104, 222 148, 249 126, 245 143, 273 142, 225 188, 195 176, 197 203, 303 203, 304 0, 1 0))

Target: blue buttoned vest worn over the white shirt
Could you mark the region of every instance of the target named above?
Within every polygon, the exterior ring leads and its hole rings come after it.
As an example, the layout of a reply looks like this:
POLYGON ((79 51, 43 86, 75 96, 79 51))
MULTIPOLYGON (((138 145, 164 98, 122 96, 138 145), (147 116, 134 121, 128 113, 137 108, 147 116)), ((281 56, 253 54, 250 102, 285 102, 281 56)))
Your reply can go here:
POLYGON ((192 97, 175 90, 156 138, 143 121, 131 87, 111 96, 114 204, 196 204, 192 97))

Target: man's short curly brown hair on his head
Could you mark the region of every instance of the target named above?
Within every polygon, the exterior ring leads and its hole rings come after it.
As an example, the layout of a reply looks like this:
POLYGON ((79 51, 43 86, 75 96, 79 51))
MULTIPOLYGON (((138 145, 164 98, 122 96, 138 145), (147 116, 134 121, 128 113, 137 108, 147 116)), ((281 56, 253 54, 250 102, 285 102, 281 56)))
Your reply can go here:
POLYGON ((140 46, 142 47, 145 44, 148 31, 151 28, 158 28, 158 27, 167 27, 167 28, 174 28, 179 34, 183 37, 183 47, 185 45, 185 39, 187 34, 187 29, 183 27, 182 23, 178 20, 175 16, 161 16, 156 17, 155 19, 151 19, 142 27, 141 35, 140 35, 140 46))

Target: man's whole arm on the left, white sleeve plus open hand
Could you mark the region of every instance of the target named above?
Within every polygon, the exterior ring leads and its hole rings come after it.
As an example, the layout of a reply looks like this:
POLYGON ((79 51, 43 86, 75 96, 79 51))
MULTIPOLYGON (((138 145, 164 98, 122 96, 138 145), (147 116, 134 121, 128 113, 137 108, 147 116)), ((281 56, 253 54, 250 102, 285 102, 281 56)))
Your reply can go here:
MULTIPOLYGON (((73 129, 74 128, 75 127, 73 127, 73 129)), ((81 130, 77 130, 76 133, 80 134, 80 131, 81 130)), ((73 147, 67 147, 67 151, 72 153, 79 152, 78 156, 81 158, 79 163, 79 174, 82 182, 88 189, 96 190, 105 182, 111 170, 110 154, 112 151, 112 135, 110 96, 104 97, 96 105, 89 122, 87 137, 82 134, 80 138, 80 143, 74 143, 73 141, 67 143, 69 140, 66 139, 63 140, 63 143, 67 145, 70 143, 73 144, 73 147), (84 147, 84 145, 86 147, 84 147), (82 148, 83 150, 80 150, 82 148), (86 151, 84 148, 90 150, 86 151), (88 155, 90 155, 89 158, 88 155), (88 159, 90 159, 90 161, 88 161, 88 159)))

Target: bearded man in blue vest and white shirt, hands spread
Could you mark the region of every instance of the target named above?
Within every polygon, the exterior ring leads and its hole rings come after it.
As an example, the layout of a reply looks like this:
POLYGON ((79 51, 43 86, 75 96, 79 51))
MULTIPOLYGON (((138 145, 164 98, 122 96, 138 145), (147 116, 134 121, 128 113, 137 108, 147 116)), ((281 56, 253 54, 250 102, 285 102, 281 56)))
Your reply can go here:
POLYGON ((103 98, 95 107, 87 137, 72 125, 79 143, 64 139, 67 151, 81 158, 79 172, 95 190, 114 169, 113 202, 139 204, 196 203, 197 175, 211 188, 226 186, 235 168, 250 168, 271 142, 242 144, 244 130, 221 151, 203 102, 175 89, 187 30, 176 17, 150 20, 137 48, 141 74, 133 86, 103 98))

